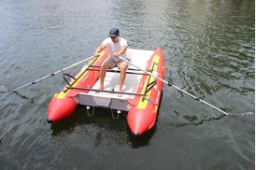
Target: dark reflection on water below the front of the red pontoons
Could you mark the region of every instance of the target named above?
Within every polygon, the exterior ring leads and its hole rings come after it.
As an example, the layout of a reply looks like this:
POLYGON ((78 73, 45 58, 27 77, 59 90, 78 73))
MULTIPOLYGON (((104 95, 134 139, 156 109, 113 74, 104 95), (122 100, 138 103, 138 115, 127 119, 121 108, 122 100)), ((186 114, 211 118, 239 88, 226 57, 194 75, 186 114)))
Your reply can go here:
POLYGON ((156 126, 145 135, 135 136, 128 127, 126 114, 121 115, 119 120, 113 120, 110 110, 97 108, 95 115, 89 117, 86 109, 80 106, 71 118, 52 123, 50 129, 52 136, 73 133, 92 135, 95 147, 100 146, 106 140, 114 140, 118 141, 120 145, 131 145, 132 148, 137 149, 149 145, 149 140, 155 133, 156 126))

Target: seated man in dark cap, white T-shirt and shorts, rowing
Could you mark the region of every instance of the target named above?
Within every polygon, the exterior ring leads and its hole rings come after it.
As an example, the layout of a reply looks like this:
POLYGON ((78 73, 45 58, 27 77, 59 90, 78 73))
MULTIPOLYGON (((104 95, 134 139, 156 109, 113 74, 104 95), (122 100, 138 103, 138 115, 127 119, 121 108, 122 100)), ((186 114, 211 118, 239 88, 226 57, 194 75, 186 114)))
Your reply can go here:
POLYGON ((127 41, 120 37, 120 32, 118 28, 112 28, 109 31, 109 37, 107 37, 99 46, 95 52, 93 53, 94 56, 97 56, 99 52, 108 48, 108 58, 104 61, 101 66, 100 72, 100 88, 99 90, 104 89, 104 79, 106 77, 106 70, 108 68, 112 68, 118 66, 120 68, 120 86, 119 92, 122 92, 122 85, 124 79, 126 77, 126 69, 128 68, 128 64, 122 61, 119 57, 123 57, 128 59, 127 55, 127 41))

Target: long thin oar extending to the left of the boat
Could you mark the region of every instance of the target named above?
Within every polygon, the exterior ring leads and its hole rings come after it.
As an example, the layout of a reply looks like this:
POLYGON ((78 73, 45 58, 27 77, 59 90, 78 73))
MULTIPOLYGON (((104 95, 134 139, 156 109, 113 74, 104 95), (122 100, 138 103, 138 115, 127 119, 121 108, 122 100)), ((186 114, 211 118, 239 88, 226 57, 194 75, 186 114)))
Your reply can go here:
MULTIPOLYGON (((99 55, 98 55, 98 56, 99 56, 99 55)), ((96 56, 96 57, 98 57, 98 56, 96 56)), ((67 70, 67 69, 69 69, 69 68, 71 68, 71 67, 74 67, 74 66, 76 66, 76 65, 78 65, 78 64, 81 64, 81 63, 84 63, 84 62, 86 62, 86 61, 88 61, 88 60, 91 60, 93 57, 94 57, 94 56, 91 56, 91 57, 89 57, 89 58, 87 58, 87 59, 85 59, 85 60, 82 60, 82 61, 80 61, 80 62, 78 62, 78 63, 76 63, 76 64, 72 64, 72 65, 69 65, 69 66, 67 66, 67 67, 65 67, 65 68, 63 68, 63 69, 61 69, 61 70, 55 71, 54 73, 52 73, 52 74, 50 74, 50 75, 44 76, 44 77, 42 77, 42 78, 38 78, 38 79, 36 79, 36 80, 34 80, 34 81, 30 82, 30 83, 27 83, 27 84, 25 84, 25 85, 22 85, 22 86, 19 87, 19 88, 16 88, 16 89, 12 90, 12 92, 17 92, 17 91, 19 91, 19 90, 21 90, 21 89, 23 89, 23 88, 25 88, 25 87, 27 87, 27 86, 30 86, 30 85, 32 85, 32 84, 36 84, 36 82, 38 82, 38 81, 41 81, 41 80, 46 79, 46 78, 50 78, 50 77, 52 77, 52 76, 54 76, 54 75, 57 75, 57 74, 63 72, 64 70, 67 70)), ((3 86, 3 85, 2 85, 2 86, 3 86)))

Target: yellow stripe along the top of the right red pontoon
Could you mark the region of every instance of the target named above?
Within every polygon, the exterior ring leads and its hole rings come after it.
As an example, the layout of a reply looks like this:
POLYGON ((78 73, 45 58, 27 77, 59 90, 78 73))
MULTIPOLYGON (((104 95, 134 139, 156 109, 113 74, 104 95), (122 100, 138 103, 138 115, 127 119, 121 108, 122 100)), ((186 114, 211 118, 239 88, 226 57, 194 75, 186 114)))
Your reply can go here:
MULTIPOLYGON (((151 65, 150 65, 150 68, 153 66, 154 63, 155 63, 155 64, 159 64, 159 60, 160 60, 160 56, 159 56, 159 55, 155 55, 155 56, 153 57, 153 61, 152 61, 151 65)), ((156 72, 156 71, 157 71, 157 68, 158 68, 158 66, 154 66, 153 71, 156 72)), ((146 79, 145 82, 148 82, 148 81, 149 81, 149 78, 150 78, 150 76, 148 76, 148 78, 146 79)), ((149 83, 151 83, 151 82, 154 81, 154 80, 155 80, 155 78, 151 77, 149 83)), ((145 83, 142 92, 145 92, 145 91, 146 91, 146 87, 147 87, 147 84, 145 83)), ((151 90, 150 90, 149 92, 147 92, 147 95, 146 95, 147 98, 150 96, 150 93, 151 93, 151 90)), ((143 97, 140 97, 139 102, 138 102, 138 105, 137 105, 137 108, 139 108, 139 109, 145 109, 145 108, 148 106, 148 103, 149 103, 148 100, 143 100, 143 97)))

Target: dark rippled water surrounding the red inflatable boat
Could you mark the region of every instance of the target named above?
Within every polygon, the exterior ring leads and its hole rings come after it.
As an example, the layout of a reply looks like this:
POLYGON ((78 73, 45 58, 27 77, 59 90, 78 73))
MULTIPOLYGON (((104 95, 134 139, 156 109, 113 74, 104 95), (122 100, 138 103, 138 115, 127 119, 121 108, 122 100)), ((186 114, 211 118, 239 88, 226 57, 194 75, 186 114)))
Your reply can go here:
POLYGON ((166 80, 235 115, 222 117, 165 85, 146 135, 132 135, 125 116, 113 120, 96 108, 88 117, 82 106, 50 125, 58 75, 0 93, 1 169, 254 169, 254 11, 250 0, 1 1, 0 85, 7 89, 90 57, 117 26, 133 49, 162 48, 166 80))

